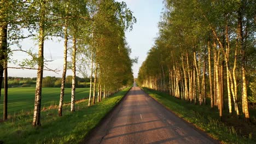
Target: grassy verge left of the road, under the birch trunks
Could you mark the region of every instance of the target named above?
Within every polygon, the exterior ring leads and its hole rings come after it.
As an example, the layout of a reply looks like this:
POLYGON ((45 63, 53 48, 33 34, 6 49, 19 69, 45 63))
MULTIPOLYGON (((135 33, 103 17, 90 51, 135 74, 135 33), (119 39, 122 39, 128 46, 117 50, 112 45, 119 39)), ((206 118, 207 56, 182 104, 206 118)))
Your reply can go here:
POLYGON ((57 109, 42 111, 42 126, 31 126, 32 112, 20 113, 8 122, 0 123, 0 141, 4 143, 79 143, 85 135, 124 97, 129 88, 103 99, 88 107, 88 100, 63 107, 63 116, 57 116, 57 109))

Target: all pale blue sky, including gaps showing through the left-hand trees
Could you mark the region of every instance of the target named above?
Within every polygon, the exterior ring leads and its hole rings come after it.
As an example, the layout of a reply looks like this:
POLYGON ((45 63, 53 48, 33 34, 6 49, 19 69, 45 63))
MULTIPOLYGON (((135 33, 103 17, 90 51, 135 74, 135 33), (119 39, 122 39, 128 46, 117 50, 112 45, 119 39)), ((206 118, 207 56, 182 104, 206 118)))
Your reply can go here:
MULTIPOLYGON (((122 0, 117 0, 122 1, 122 0)), ((133 74, 137 77, 139 67, 147 57, 148 50, 154 44, 154 38, 158 34, 158 22, 162 8, 162 0, 123 0, 126 2, 127 7, 133 11, 133 15, 137 19, 137 23, 133 26, 131 32, 126 32, 126 40, 132 49, 131 57, 138 57, 138 63, 133 65, 133 74)), ((33 49, 37 52, 36 43, 31 39, 25 39, 21 42, 22 49, 33 49)), ((13 48, 14 49, 14 48, 13 48)), ((26 55, 22 52, 15 52, 13 54, 15 59, 21 61, 26 55)), ((62 40, 47 40, 44 45, 44 56, 46 59, 52 59, 53 62, 48 63, 48 67, 52 69, 59 69, 59 74, 51 71, 44 71, 43 76, 56 76, 62 75, 62 63, 63 63, 63 41, 62 40)), ((9 64, 9 67, 14 66, 9 64)), ((71 75, 71 70, 67 71, 67 75, 71 75)), ((9 76, 21 76, 21 77, 36 77, 36 70, 17 70, 9 69, 9 76)), ((81 76, 82 75, 78 75, 81 76)))

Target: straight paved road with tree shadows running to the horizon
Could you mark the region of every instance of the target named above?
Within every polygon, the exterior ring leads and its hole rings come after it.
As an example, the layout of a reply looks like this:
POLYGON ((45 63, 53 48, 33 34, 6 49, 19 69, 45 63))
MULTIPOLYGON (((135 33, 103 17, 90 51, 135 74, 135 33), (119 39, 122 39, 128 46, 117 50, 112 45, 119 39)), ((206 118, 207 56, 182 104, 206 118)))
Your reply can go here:
POLYGON ((84 143, 216 143, 132 87, 84 143))

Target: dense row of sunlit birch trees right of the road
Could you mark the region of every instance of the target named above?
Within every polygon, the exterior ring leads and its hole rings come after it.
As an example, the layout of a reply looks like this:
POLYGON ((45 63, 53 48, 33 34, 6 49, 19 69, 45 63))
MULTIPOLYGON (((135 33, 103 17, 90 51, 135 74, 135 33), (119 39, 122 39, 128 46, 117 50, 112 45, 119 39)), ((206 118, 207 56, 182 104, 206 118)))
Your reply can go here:
POLYGON ((220 118, 227 107, 249 121, 248 97, 256 97, 248 94, 256 76, 255 24, 254 1, 165 1, 138 83, 199 105, 210 98, 220 118))

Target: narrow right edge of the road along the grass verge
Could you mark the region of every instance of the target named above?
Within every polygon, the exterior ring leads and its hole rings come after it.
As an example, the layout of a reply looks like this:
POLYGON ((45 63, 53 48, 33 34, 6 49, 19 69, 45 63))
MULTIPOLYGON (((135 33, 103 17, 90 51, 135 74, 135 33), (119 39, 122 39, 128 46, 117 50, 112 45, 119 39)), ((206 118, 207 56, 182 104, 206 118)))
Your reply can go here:
MULTIPOLYGON (((142 87, 139 87, 139 88, 141 88, 141 90, 142 90, 144 93, 146 93, 142 87)), ((163 107, 165 107, 166 110, 168 110, 168 111, 170 111, 171 113, 173 113, 173 115, 177 116, 177 117, 178 117, 179 119, 181 119, 183 122, 187 123, 191 128, 193 128, 194 130, 196 130, 197 132, 199 132, 201 135, 207 137, 207 139, 209 139, 209 140, 212 141, 213 143, 222 143, 222 142, 220 142, 219 140, 214 139, 214 138, 213 138, 211 135, 209 135, 206 131, 204 131, 204 130, 198 128, 195 124, 186 121, 186 120, 185 120, 184 118, 182 118, 182 117, 179 117, 179 116, 177 115, 177 113, 175 113, 174 111, 172 111, 169 107, 165 106, 164 104, 160 103, 160 102, 159 102, 158 100, 156 100, 155 98, 151 97, 148 93, 146 93, 146 95, 147 95, 149 98, 152 98, 154 101, 156 101, 156 103, 158 103, 158 104, 162 105, 163 107)))

